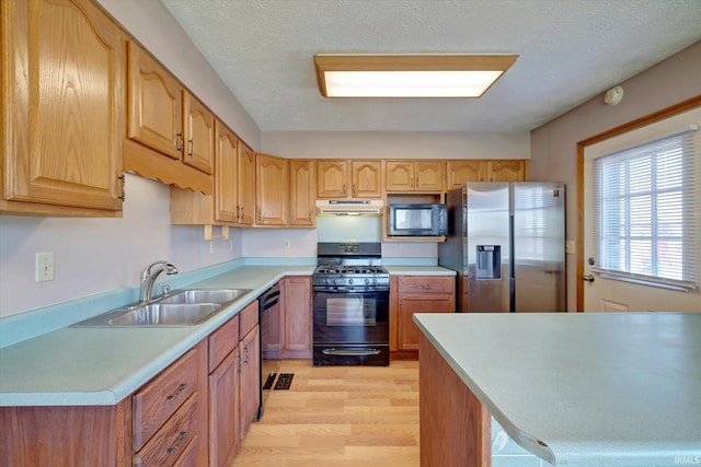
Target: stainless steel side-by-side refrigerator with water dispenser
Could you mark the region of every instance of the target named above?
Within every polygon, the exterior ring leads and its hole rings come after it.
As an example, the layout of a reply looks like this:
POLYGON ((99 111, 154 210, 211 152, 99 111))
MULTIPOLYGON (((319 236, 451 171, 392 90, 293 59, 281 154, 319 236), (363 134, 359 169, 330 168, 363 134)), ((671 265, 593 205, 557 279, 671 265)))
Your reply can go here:
POLYGON ((457 312, 566 311, 564 184, 467 183, 446 203, 457 312))

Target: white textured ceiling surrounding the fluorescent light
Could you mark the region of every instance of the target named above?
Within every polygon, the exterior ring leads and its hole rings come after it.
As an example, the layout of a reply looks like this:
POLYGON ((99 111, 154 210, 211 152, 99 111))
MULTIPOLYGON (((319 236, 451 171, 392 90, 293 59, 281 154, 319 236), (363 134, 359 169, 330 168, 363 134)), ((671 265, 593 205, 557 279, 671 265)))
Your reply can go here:
POLYGON ((161 1, 263 131, 527 131, 701 39, 701 0, 161 1), (320 52, 519 58, 479 100, 330 100, 320 52))

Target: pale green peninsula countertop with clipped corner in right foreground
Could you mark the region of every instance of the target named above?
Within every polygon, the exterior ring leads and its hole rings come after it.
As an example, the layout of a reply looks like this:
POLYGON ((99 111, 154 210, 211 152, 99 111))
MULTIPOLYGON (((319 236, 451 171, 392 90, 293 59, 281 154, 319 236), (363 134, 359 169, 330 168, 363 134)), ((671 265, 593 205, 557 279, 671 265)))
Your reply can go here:
POLYGON ((701 313, 414 322, 508 435, 551 464, 701 464, 701 313))

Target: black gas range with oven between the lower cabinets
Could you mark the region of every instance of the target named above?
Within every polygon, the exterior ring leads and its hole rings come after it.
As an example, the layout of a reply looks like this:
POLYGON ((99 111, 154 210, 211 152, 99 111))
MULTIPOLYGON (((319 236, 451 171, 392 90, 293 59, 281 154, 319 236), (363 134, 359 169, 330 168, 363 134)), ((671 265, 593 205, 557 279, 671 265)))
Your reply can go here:
POLYGON ((388 365, 390 277, 381 243, 319 243, 317 259, 314 365, 388 365))

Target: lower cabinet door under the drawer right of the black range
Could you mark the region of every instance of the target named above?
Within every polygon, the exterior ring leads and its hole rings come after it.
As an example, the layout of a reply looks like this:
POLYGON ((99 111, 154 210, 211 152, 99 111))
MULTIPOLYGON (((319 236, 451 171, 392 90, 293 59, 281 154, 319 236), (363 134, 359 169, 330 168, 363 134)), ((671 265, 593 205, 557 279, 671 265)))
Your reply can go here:
POLYGON ((414 313, 450 313, 453 311, 453 295, 400 294, 398 319, 399 350, 418 350, 421 331, 412 320, 414 313))

